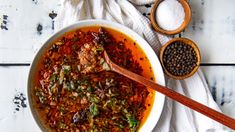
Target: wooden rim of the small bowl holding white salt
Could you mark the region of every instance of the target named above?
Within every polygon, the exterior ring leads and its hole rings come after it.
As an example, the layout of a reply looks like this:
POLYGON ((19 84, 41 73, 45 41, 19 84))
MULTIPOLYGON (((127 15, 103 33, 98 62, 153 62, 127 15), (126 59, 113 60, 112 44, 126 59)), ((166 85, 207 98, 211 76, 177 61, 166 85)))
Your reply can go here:
POLYGON ((151 24, 153 26, 153 28, 161 33, 161 34, 165 34, 165 35, 175 35, 175 34, 178 34, 180 33, 181 31, 183 31, 189 24, 190 20, 191 20, 191 17, 192 17, 192 12, 191 12, 191 8, 188 4, 188 2, 186 0, 179 0, 180 4, 183 6, 184 8, 184 12, 185 12, 185 18, 184 18, 184 21, 183 23, 181 24, 180 27, 178 27, 177 29, 175 30, 165 30, 163 28, 161 28, 158 23, 157 23, 157 20, 156 20, 156 10, 159 6, 159 4, 161 2, 163 2, 164 0, 156 0, 152 9, 151 9, 151 14, 150 14, 150 20, 151 20, 151 24))

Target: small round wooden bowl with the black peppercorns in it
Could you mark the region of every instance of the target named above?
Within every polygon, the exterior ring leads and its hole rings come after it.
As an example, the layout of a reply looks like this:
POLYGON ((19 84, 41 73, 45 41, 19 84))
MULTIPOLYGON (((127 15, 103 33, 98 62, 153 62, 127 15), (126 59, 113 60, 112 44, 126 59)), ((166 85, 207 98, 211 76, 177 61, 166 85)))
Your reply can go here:
POLYGON ((167 76, 182 80, 192 76, 201 62, 197 45, 187 38, 174 38, 160 50, 160 61, 167 76))

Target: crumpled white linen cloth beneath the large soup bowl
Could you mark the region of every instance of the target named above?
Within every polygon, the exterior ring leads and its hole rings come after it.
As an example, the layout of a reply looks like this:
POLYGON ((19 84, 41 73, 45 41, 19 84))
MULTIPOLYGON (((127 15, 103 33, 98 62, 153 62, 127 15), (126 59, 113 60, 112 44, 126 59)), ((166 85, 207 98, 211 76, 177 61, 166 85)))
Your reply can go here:
MULTIPOLYGON (((105 19, 123 24, 142 36, 155 50, 170 38, 157 34, 148 18, 135 5, 153 3, 154 0, 63 0, 60 28, 79 20, 105 19), (158 41, 159 40, 159 41, 158 41)), ((194 76, 177 81, 168 79, 167 86, 213 109, 220 111, 199 69, 194 76)), ((213 132, 221 131, 222 125, 166 97, 165 106, 156 132, 213 132)))

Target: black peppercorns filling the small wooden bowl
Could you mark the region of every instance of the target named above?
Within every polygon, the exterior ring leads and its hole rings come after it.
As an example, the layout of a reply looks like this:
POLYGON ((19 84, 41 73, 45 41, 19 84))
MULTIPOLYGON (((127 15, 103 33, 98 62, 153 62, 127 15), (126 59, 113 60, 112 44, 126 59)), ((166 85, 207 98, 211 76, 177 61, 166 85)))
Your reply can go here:
POLYGON ((165 48, 162 61, 170 74, 184 76, 197 66, 198 58, 192 46, 179 40, 165 48))

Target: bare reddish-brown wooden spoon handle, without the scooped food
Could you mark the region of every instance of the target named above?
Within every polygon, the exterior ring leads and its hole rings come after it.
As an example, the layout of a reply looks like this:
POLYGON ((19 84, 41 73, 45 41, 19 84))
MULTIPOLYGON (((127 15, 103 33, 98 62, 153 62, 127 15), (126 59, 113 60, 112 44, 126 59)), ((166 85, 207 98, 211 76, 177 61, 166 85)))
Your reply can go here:
POLYGON ((105 57, 105 60, 106 60, 106 63, 109 65, 110 67, 110 70, 116 72, 116 73, 119 73, 127 78, 130 78, 138 83, 141 83, 153 90, 156 90, 168 97, 170 97, 171 99, 215 120, 215 121, 218 121, 220 122, 221 124, 225 125, 225 126, 228 126, 232 129, 235 129, 235 119, 231 118, 231 117, 228 117, 214 109, 211 109, 197 101, 194 101, 182 94, 179 94, 167 87, 164 87, 164 86, 161 86, 151 80, 148 80, 138 74, 135 74, 131 71, 128 71, 120 66, 118 66, 117 64, 113 63, 109 57, 108 57, 108 54, 106 53, 106 51, 104 51, 104 57, 105 57))

